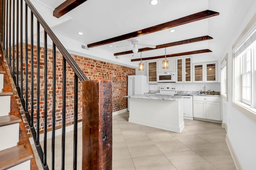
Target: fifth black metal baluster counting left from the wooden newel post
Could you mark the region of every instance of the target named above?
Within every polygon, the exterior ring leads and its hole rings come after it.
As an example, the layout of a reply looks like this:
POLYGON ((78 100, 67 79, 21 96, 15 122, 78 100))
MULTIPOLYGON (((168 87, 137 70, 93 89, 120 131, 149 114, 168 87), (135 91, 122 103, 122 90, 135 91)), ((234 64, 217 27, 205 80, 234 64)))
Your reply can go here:
POLYGON ((36 43, 37 43, 37 91, 36 91, 36 145, 39 145, 39 135, 40 135, 40 23, 37 21, 37 28, 36 28, 36 43))

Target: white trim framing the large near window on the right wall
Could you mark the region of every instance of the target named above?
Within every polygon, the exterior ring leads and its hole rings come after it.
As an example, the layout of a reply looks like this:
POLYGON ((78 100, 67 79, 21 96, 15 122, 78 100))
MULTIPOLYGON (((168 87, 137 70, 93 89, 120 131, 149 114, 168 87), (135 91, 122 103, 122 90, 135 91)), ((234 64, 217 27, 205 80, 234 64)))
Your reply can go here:
MULTIPOLYGON (((256 14, 252 17, 248 25, 245 27, 244 31, 242 31, 241 35, 238 37, 234 45, 232 46, 232 51, 238 47, 242 41, 248 36, 248 33, 252 31, 252 29, 256 26, 256 14)), ((242 102, 235 102, 235 85, 234 85, 234 60, 235 54, 232 52, 232 106, 238 109, 241 113, 252 119, 252 121, 256 122, 256 109, 252 108, 242 102)), ((256 76, 254 76, 256 78, 256 76)))

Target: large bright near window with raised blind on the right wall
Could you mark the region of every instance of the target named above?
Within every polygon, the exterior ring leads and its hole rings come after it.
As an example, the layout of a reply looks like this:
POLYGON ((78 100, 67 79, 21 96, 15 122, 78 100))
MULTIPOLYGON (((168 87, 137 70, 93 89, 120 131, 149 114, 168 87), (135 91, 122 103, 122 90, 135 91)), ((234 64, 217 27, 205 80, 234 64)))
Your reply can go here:
MULTIPOLYGON (((256 114, 256 26, 233 49, 233 102, 256 114)), ((221 75, 224 75, 224 71, 221 75)), ((224 78, 223 78, 224 81, 224 78)), ((222 90, 222 89, 221 89, 222 90)), ((224 91, 223 91, 224 93, 224 91)))

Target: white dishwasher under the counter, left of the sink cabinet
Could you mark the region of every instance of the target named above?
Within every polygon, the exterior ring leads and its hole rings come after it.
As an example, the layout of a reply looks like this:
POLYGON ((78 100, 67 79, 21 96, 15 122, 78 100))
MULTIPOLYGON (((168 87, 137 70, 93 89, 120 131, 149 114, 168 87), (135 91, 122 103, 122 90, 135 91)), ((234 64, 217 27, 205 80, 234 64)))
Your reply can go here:
POLYGON ((193 119, 193 96, 180 96, 183 98, 184 119, 193 119))

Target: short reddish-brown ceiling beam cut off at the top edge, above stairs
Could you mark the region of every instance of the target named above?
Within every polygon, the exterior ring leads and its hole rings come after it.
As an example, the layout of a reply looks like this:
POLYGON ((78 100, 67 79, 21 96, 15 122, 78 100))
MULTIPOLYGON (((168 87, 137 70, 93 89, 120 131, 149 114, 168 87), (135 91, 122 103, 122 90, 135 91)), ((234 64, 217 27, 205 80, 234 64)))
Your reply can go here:
POLYGON ((60 18, 84 2, 86 2, 86 0, 66 0, 54 9, 53 16, 60 18))

